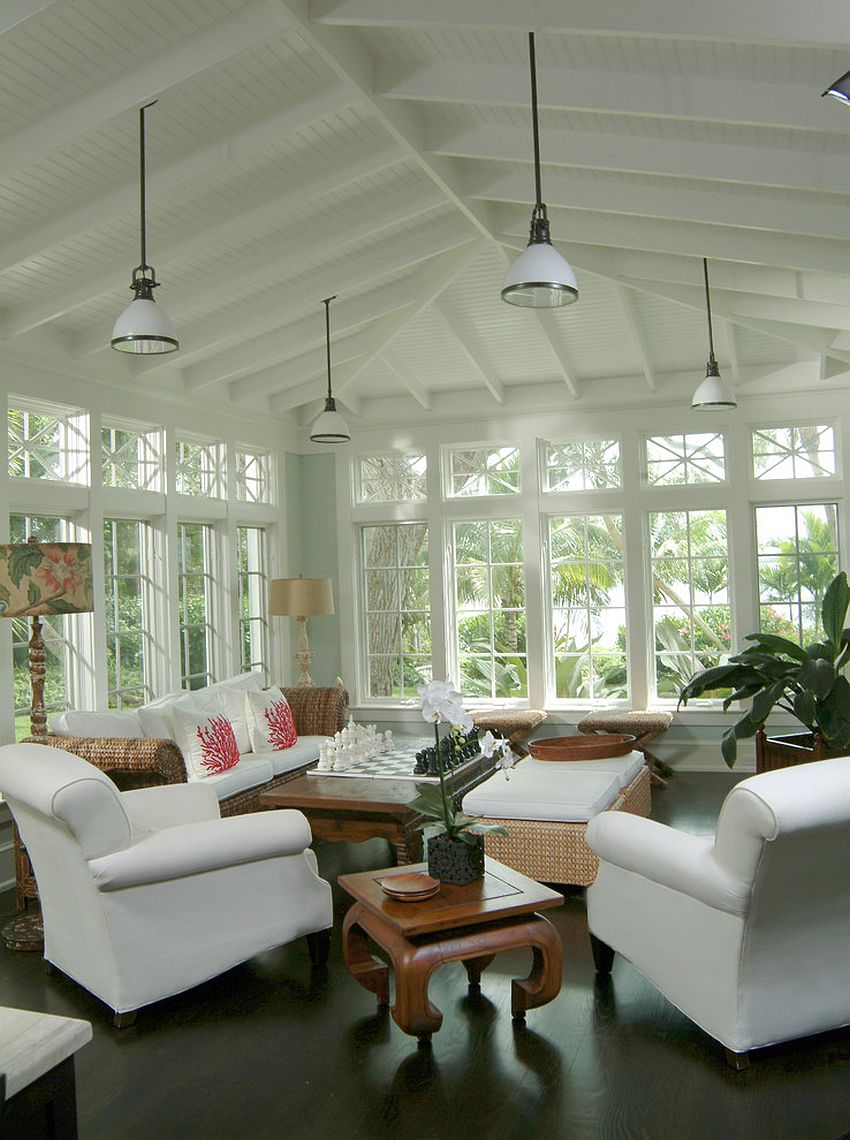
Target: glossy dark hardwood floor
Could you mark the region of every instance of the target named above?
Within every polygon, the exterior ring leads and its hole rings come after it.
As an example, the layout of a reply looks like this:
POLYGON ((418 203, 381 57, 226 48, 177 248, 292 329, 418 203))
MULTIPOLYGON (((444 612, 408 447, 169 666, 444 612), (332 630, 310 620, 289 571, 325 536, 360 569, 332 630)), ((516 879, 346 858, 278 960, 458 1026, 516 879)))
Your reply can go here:
MULTIPOLYGON (((653 815, 711 831, 735 779, 679 773, 655 790, 653 815)), ((378 840, 319 848, 330 881, 386 861, 378 840)), ((850 1031, 763 1050, 733 1072, 628 962, 596 982, 580 890, 548 912, 564 940, 561 995, 515 1026, 509 982, 528 972, 526 951, 497 958, 481 993, 460 964, 447 966, 431 986, 446 1015, 431 1050, 377 1016, 345 972, 348 901, 335 899, 326 974, 311 974, 301 942, 148 1007, 128 1029, 68 979, 44 975, 40 955, 0 951, 5 1004, 93 1025, 77 1054, 82 1140, 837 1140, 850 1130, 850 1031)))

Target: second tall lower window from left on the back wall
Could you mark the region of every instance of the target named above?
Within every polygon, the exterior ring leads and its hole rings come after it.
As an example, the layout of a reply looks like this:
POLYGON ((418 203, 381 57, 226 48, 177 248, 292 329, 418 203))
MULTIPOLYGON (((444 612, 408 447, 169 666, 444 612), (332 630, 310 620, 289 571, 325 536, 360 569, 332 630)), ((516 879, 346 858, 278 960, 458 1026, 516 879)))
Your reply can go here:
POLYGON ((528 697, 522 522, 452 528, 456 656, 465 697, 528 697))

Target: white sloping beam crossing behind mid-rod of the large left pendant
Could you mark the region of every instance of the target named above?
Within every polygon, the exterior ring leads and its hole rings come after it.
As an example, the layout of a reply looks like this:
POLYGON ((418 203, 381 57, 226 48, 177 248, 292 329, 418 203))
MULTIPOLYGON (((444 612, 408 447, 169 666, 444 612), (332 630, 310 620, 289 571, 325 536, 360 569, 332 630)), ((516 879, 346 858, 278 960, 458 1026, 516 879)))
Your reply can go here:
MULTIPOLYGON (((326 119, 328 114, 346 105, 344 103, 346 95, 348 91, 341 83, 332 85, 322 83, 321 87, 309 92, 303 99, 289 107, 236 128, 229 135, 181 155, 174 162, 154 166, 147 174, 148 202, 155 205, 157 198, 164 196, 169 190, 195 179, 204 178, 211 172, 220 170, 222 165, 235 166, 240 157, 252 155, 270 142, 276 142, 326 119)), ((392 146, 382 147, 376 153, 394 153, 393 161, 399 161, 402 156, 401 149, 392 146)), ((128 155, 128 173, 134 170, 133 162, 128 155)), ((256 198, 256 207, 259 209, 263 202, 263 193, 264 188, 261 188, 246 197, 248 202, 252 197, 256 198)), ((13 241, 3 242, 0 245, 0 272, 28 261, 64 242, 76 238, 81 231, 101 225, 108 218, 117 214, 129 215, 132 211, 138 210, 138 202, 139 184, 138 174, 136 174, 132 180, 128 180, 117 189, 52 218, 39 229, 26 231, 13 241)), ((227 209, 232 210, 232 207, 227 209)), ((155 217, 153 211, 152 214, 155 217)), ((136 222, 132 226, 129 225, 129 231, 133 230, 134 225, 136 222)))

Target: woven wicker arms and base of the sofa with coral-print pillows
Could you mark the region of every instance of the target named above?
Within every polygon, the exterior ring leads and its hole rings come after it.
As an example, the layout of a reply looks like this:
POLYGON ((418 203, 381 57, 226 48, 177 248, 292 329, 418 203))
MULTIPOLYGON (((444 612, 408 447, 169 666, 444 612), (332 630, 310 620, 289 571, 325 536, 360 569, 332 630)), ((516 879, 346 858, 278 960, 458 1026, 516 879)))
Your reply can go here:
MULTIPOLYGON (((333 736, 344 727, 349 714, 349 693, 342 685, 328 687, 284 689, 292 706, 295 727, 300 736, 333 736)), ((95 739, 92 736, 49 736, 54 748, 81 756, 96 768, 106 772, 122 791, 150 788, 157 784, 186 783, 183 754, 173 740, 95 739)), ((237 792, 220 803, 222 815, 243 815, 255 812, 261 792, 277 788, 301 772, 287 772, 268 783, 237 792)))

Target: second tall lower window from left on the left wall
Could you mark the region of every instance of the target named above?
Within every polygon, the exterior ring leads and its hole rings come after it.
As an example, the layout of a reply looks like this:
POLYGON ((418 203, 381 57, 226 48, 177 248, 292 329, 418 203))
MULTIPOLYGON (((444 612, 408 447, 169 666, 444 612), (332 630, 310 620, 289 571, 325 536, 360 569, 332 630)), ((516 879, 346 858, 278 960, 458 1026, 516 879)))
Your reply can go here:
POLYGON ((149 527, 104 520, 104 593, 109 708, 137 708, 153 695, 149 527))

